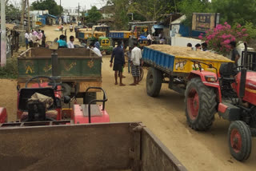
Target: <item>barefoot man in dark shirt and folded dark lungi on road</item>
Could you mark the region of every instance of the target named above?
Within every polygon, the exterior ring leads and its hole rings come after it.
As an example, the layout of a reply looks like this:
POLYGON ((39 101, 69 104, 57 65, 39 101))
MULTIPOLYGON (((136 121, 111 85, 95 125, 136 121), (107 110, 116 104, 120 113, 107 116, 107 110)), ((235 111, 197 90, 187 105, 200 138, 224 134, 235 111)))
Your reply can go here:
POLYGON ((118 47, 114 48, 111 60, 110 60, 110 68, 112 67, 114 58, 114 79, 115 79, 115 85, 118 85, 118 72, 119 72, 119 78, 120 78, 120 86, 123 86, 122 84, 122 67, 125 66, 125 55, 122 49, 122 42, 118 41, 118 47))

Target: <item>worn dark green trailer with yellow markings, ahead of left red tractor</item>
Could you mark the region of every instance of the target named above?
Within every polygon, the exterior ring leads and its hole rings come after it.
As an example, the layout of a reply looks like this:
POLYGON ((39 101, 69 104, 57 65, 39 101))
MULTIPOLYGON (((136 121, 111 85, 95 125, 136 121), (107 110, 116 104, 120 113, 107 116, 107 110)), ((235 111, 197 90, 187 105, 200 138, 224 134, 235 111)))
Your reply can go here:
MULTIPOLYGON (((94 99, 97 89, 85 91, 90 86, 102 86, 102 57, 86 48, 60 48, 56 54, 65 95, 83 98, 84 104, 94 99)), ((31 48, 19 55, 18 89, 25 87, 28 78, 52 76, 51 55, 52 51, 47 48, 31 48)))

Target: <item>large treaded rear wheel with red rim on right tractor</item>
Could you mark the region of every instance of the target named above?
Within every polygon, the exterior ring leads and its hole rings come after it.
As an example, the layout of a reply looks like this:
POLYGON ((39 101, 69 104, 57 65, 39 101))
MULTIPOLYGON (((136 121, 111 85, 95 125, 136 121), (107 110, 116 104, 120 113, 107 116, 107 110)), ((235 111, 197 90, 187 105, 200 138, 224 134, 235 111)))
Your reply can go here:
POLYGON ((192 78, 186 85, 185 104, 188 125, 195 130, 210 129, 217 112, 214 89, 204 85, 201 78, 192 78))

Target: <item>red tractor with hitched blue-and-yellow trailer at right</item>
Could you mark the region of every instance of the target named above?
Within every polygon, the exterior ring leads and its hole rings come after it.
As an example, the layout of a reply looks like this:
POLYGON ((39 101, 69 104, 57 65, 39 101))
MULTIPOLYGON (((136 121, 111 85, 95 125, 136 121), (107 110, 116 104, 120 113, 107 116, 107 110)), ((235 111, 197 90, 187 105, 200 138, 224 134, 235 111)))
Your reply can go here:
MULTIPOLYGON (((245 43, 246 46, 246 43, 245 43)), ((254 58, 245 50, 242 66, 230 60, 178 57, 144 48, 150 65, 146 92, 158 96, 162 83, 185 95, 186 121, 191 129, 210 129, 214 115, 230 121, 228 146, 238 161, 250 157, 256 137, 256 74, 254 58), (248 55, 247 55, 248 54, 248 55)))

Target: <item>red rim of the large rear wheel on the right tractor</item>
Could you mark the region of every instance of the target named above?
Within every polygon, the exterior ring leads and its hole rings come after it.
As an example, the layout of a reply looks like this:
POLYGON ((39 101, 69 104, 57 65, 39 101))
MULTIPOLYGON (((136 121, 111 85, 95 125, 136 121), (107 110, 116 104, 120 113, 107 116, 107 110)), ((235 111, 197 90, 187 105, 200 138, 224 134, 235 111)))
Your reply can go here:
POLYGON ((195 120, 198 117, 199 111, 199 96, 196 89, 190 89, 188 98, 187 98, 187 109, 189 116, 192 120, 195 120))

